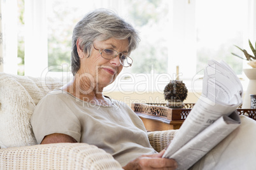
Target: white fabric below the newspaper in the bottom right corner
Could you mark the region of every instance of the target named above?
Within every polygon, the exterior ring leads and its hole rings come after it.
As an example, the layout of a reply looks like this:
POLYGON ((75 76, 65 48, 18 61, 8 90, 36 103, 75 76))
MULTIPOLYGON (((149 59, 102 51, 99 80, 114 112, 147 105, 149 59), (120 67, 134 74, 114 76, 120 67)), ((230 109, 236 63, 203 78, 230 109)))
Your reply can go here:
POLYGON ((241 126, 199 160, 190 170, 255 169, 256 121, 241 115, 241 126))

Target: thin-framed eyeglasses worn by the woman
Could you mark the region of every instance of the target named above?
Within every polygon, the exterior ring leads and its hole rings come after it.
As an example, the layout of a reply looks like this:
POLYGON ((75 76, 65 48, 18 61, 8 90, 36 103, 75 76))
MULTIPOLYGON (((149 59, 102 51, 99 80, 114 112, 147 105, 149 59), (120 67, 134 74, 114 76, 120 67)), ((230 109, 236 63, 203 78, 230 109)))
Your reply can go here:
MULTIPOLYGON (((94 46, 94 44, 92 44, 92 45, 94 46)), ((119 56, 119 60, 120 60, 120 63, 122 64, 122 66, 124 66, 124 67, 132 66, 132 62, 133 62, 132 58, 127 55, 124 55, 121 52, 117 52, 113 49, 100 50, 100 49, 95 48, 95 46, 94 46, 94 49, 99 50, 99 53, 101 54, 101 56, 107 60, 111 60, 111 59, 119 56)))

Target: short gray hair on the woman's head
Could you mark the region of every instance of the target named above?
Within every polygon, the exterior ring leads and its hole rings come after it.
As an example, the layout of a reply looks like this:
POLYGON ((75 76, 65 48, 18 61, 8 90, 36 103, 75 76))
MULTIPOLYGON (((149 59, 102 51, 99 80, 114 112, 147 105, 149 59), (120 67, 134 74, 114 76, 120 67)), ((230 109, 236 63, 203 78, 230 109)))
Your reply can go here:
POLYGON ((92 50, 92 42, 96 39, 101 41, 110 39, 128 39, 129 53, 136 49, 139 43, 138 32, 110 10, 95 10, 83 17, 73 30, 71 66, 73 75, 80 69, 80 57, 78 56, 76 41, 80 39, 79 46, 83 53, 89 54, 92 50))

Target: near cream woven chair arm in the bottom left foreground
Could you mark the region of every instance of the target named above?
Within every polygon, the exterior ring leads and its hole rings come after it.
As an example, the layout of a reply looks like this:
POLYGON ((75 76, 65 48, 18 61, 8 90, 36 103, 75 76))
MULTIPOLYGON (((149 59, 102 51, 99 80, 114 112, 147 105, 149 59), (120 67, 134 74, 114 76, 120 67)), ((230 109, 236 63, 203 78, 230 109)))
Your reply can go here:
POLYGON ((122 169, 112 155, 86 143, 0 149, 0 169, 122 169))

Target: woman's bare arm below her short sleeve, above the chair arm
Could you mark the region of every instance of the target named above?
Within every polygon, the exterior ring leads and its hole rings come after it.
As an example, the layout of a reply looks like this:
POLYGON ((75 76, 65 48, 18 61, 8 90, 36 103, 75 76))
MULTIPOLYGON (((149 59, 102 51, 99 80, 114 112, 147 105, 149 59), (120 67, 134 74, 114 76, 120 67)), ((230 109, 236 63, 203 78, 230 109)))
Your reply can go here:
POLYGON ((67 134, 53 133, 45 136, 41 142, 41 144, 49 143, 77 143, 77 141, 67 134))

